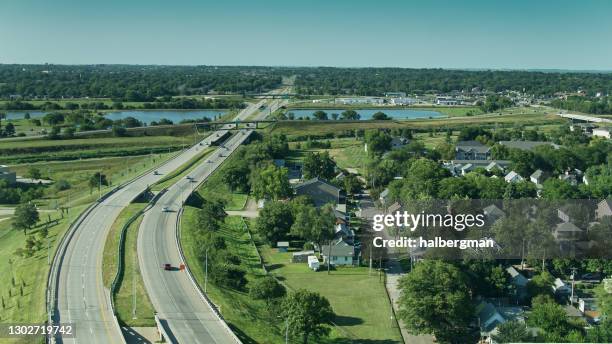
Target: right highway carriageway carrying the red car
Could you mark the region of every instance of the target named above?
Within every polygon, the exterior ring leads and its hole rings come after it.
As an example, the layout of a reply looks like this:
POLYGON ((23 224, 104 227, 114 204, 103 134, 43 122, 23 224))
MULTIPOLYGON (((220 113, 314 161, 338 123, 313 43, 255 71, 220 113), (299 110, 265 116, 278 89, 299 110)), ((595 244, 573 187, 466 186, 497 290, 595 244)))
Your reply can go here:
MULTIPOLYGON (((282 100, 268 101, 272 111, 282 106, 282 100)), ((258 105, 259 107, 259 105, 258 105)), ((262 111, 255 119, 265 118, 262 111)), ((249 115, 246 115, 249 116, 249 115)), ((246 117, 245 117, 246 118, 246 117)), ((244 118, 243 118, 244 119, 244 118)), ((189 176, 172 185, 163 196, 145 212, 138 233, 138 258, 145 287, 158 317, 170 329, 177 343, 239 343, 225 322, 221 320, 200 293, 195 282, 186 271, 163 269, 164 264, 178 267, 181 259, 177 241, 177 224, 184 200, 203 183, 227 157, 233 153, 252 133, 243 129, 224 143, 197 166, 189 176), (162 209, 167 207, 169 211, 162 209)))

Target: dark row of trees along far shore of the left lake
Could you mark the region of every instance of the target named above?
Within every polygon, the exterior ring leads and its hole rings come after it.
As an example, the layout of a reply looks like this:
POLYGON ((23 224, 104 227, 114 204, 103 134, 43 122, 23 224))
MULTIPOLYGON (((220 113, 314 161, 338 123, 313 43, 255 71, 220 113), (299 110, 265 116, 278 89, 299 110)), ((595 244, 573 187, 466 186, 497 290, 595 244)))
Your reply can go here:
POLYGON ((158 98, 153 102, 145 102, 139 106, 126 105, 120 101, 107 104, 104 102, 44 102, 40 105, 27 101, 14 100, 0 104, 0 110, 122 110, 122 109, 235 109, 244 108, 244 103, 235 99, 192 99, 192 98, 172 98, 170 96, 158 98))

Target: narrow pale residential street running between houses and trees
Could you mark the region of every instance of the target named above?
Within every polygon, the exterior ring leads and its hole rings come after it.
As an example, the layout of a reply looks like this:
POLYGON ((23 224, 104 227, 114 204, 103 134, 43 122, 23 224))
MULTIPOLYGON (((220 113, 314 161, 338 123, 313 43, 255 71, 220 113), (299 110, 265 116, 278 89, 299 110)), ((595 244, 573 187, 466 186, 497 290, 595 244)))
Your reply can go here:
MULTIPOLYGON (((382 213, 382 210, 376 208, 372 199, 369 196, 364 197, 360 201, 361 213, 360 216, 364 219, 367 219, 368 222, 372 221, 372 217, 374 214, 382 213)), ((371 228, 371 226, 370 226, 371 228)), ((387 231, 378 232, 384 239, 391 239, 389 233, 387 231)), ((399 252, 395 251, 394 248, 388 248, 387 253, 389 256, 389 261, 387 262, 387 282, 385 287, 387 288, 387 292, 389 293, 389 297, 391 298, 391 302, 393 303, 393 309, 395 310, 395 314, 399 312, 398 300, 400 298, 400 290, 399 290, 399 280, 405 275, 402 270, 402 266, 400 265, 397 254, 399 252)), ((408 344, 432 344, 434 343, 433 337, 430 335, 421 335, 415 336, 408 332, 406 329, 406 325, 402 320, 398 319, 400 324, 400 330, 402 332, 402 337, 404 341, 408 344)))

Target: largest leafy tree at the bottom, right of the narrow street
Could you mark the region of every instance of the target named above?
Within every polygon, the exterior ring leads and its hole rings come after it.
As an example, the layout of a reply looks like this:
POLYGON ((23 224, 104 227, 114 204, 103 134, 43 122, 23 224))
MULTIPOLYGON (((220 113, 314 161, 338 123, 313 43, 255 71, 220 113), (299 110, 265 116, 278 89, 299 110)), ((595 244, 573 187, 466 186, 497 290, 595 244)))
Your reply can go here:
POLYGON ((412 333, 433 333, 442 343, 468 342, 474 309, 466 278, 457 267, 425 260, 399 283, 399 317, 412 333))

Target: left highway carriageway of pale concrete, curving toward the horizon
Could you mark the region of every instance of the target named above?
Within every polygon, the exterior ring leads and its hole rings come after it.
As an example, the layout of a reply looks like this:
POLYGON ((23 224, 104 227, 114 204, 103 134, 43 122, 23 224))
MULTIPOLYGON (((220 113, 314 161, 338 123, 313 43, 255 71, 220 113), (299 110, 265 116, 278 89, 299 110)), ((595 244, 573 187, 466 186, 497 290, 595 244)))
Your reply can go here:
MULTIPOLYGON (((237 119, 245 119, 257 111, 266 101, 251 104, 243 109, 237 119)), ((102 281, 102 257, 106 236, 121 210, 164 175, 176 170, 196 156, 216 134, 201 141, 202 145, 181 152, 157 171, 142 175, 95 204, 80 217, 73 231, 69 231, 65 243, 60 244, 54 257, 48 281, 50 320, 53 323, 73 323, 75 338, 56 338, 63 343, 123 343, 121 329, 113 315, 110 293, 102 281), (71 233, 74 233, 70 235, 71 233)), ((246 135, 246 134, 243 134, 246 135)))

